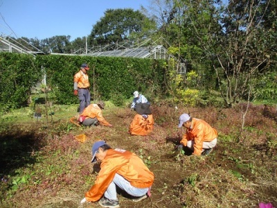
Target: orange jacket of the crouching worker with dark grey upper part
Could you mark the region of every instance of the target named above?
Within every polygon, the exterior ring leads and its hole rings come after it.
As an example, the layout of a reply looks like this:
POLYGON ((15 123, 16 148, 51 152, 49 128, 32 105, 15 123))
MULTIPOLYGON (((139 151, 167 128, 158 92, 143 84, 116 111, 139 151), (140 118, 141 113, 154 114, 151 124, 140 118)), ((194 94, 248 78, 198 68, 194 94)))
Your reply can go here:
POLYGON ((153 130, 153 125, 154 119, 152 114, 149 114, 147 119, 144 119, 140 114, 136 114, 129 125, 129 133, 131 135, 145 136, 153 130))

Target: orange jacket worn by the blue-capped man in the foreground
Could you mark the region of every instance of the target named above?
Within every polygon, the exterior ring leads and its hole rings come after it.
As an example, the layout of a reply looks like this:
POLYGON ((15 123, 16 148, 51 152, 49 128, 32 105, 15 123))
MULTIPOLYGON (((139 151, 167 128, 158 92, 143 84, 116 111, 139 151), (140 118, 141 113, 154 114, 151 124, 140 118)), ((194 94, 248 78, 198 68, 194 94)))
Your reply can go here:
POLYGON ((87 201, 98 201, 114 180, 116 173, 136 188, 148 188, 154 182, 154 174, 145 166, 141 158, 127 150, 107 150, 107 155, 102 160, 100 168, 96 182, 85 193, 87 201))

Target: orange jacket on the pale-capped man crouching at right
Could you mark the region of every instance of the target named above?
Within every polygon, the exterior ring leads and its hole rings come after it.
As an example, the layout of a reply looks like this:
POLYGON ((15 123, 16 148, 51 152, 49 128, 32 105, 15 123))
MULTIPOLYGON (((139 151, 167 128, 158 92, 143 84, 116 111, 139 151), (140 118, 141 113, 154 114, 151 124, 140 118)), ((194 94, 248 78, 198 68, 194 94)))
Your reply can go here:
POLYGON ((189 140, 194 140, 193 155, 201 155, 203 148, 203 141, 212 141, 217 138, 217 130, 211 127, 206 121, 193 118, 192 125, 186 129, 180 143, 186 146, 189 140))

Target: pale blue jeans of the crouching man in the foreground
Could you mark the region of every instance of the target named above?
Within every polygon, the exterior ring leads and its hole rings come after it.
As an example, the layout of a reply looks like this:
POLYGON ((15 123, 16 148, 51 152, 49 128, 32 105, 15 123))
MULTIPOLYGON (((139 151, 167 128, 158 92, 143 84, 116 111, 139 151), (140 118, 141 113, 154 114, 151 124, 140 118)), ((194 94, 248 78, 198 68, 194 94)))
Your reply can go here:
POLYGON ((105 198, 108 198, 110 200, 117 200, 116 185, 120 189, 129 193, 129 195, 136 196, 136 197, 145 195, 149 189, 149 188, 140 189, 140 188, 133 187, 127 180, 125 180, 124 177, 116 173, 116 175, 114 175, 114 180, 109 184, 109 187, 104 193, 105 198))

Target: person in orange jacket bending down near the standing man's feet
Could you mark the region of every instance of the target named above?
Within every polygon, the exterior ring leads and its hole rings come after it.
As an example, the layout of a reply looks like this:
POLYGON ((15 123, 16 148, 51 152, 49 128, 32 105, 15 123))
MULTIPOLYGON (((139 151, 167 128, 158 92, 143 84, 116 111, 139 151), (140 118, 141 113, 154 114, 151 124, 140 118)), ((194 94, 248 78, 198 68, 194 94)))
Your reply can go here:
POLYGON ((79 116, 79 121, 82 125, 90 126, 90 125, 98 125, 98 123, 102 125, 112 126, 111 123, 106 121, 102 115, 102 109, 104 109, 105 103, 103 101, 99 101, 97 104, 91 104, 84 109, 82 114, 79 116), (82 118, 84 120, 82 121, 82 118))

